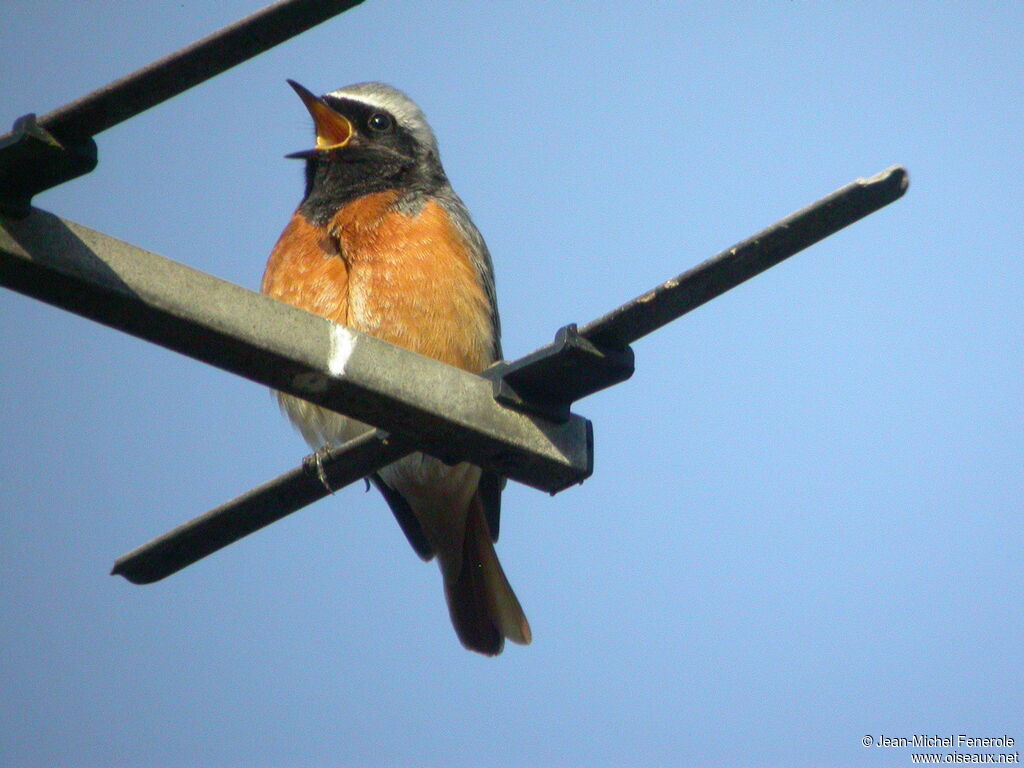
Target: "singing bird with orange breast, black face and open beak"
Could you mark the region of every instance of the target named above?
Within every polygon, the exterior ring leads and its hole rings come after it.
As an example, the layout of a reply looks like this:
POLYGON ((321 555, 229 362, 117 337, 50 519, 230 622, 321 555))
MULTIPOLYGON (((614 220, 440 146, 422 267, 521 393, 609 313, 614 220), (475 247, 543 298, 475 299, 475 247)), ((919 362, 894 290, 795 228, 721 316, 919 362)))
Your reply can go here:
MULTIPOLYGON (((288 81, 313 120, 305 193, 274 245, 261 291, 423 355, 479 373, 501 359, 494 267, 441 166, 423 112, 376 82, 314 95, 288 81)), ((371 426, 278 392, 309 445, 371 426)), ((462 644, 498 655, 528 645, 529 623, 495 551, 504 478, 414 453, 369 478, 413 549, 440 567, 462 644)))

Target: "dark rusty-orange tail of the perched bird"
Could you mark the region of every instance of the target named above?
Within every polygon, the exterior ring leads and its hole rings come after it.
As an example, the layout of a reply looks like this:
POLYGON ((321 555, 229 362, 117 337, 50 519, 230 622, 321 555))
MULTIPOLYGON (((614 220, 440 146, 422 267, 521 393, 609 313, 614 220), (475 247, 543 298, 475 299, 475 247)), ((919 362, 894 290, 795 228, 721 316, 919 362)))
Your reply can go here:
POLYGON ((495 656, 505 638, 529 644, 529 623, 498 561, 479 495, 466 515, 462 567, 457 579, 445 579, 444 597, 456 634, 470 650, 495 656))

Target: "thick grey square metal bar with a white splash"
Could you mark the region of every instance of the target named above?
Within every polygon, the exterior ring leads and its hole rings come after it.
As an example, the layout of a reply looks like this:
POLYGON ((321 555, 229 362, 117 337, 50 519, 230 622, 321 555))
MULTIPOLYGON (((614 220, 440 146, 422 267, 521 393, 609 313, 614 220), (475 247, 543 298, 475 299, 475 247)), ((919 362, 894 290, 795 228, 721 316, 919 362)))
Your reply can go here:
POLYGON ((592 469, 590 423, 499 404, 490 382, 33 209, 0 218, 0 285, 548 492, 592 469))

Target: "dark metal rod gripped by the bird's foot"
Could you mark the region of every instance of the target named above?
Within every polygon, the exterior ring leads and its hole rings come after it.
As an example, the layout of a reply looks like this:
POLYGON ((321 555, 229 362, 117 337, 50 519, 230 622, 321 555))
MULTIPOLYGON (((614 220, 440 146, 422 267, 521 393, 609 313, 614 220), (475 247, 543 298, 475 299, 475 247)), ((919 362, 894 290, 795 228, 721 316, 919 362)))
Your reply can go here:
POLYGON ((119 557, 111 573, 132 584, 158 582, 366 477, 411 450, 378 430, 324 455, 313 454, 302 466, 119 557))

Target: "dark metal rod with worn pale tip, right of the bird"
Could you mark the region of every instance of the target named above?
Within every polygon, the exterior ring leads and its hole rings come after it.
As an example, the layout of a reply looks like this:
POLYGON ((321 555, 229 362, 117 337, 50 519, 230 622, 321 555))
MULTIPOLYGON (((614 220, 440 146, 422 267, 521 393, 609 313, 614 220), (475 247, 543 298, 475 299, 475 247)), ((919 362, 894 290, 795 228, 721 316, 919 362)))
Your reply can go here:
POLYGON ((908 184, 906 169, 900 166, 893 166, 870 178, 857 179, 588 323, 580 329, 580 335, 609 348, 626 347, 808 246, 898 200, 906 191, 908 184))

